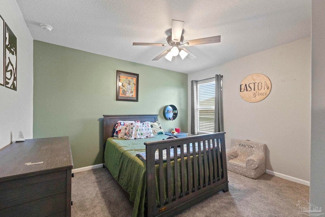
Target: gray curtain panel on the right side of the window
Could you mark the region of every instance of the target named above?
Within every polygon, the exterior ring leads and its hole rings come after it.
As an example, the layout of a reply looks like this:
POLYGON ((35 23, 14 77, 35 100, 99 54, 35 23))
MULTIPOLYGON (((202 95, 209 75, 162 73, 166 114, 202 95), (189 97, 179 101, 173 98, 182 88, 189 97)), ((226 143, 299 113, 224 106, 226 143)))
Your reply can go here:
POLYGON ((222 75, 215 75, 214 132, 223 132, 222 75))

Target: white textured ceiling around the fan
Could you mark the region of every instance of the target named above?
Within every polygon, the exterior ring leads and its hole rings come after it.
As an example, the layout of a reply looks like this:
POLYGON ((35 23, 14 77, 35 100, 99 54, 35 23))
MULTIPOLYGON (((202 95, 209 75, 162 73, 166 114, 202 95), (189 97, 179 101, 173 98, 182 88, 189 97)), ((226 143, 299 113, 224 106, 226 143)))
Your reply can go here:
POLYGON ((310 36, 310 0, 17 0, 34 40, 177 72, 191 73, 310 36), (186 40, 221 35, 187 47, 198 58, 152 61, 166 47, 172 19, 186 40), (48 32, 40 23, 53 26, 48 32))

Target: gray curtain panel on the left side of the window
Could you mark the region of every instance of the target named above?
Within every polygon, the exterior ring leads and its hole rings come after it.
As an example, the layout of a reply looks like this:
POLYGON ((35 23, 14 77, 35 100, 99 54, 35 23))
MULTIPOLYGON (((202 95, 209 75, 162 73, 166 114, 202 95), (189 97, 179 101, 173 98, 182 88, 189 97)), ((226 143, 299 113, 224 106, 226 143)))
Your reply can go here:
POLYGON ((198 135, 198 82, 191 81, 191 134, 198 135))

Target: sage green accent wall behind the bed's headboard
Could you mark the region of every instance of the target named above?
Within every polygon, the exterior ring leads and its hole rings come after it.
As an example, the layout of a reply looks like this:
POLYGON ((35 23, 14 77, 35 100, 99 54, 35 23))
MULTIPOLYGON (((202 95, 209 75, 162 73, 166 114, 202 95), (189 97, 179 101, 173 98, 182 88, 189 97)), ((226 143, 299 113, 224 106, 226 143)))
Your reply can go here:
POLYGON ((74 168, 103 163, 104 114, 159 114, 186 132, 187 74, 34 41, 34 138, 69 136, 74 168), (116 101, 116 70, 139 74, 139 102, 116 101))

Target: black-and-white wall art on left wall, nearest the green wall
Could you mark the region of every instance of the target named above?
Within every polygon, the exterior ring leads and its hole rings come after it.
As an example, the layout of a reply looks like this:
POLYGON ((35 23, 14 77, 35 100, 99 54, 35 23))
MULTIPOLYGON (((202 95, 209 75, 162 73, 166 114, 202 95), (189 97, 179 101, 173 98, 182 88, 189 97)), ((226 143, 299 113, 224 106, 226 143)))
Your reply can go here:
POLYGON ((17 38, 7 23, 5 28, 5 84, 17 90, 17 38))

